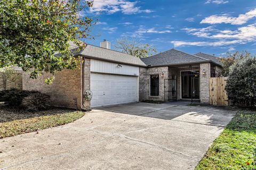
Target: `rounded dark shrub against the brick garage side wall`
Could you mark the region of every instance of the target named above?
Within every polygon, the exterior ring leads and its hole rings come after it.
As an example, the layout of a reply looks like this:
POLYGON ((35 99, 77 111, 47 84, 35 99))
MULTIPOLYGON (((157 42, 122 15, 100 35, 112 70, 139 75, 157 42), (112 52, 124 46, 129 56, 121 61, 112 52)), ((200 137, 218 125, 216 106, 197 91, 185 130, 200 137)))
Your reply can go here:
POLYGON ((21 106, 27 109, 27 111, 38 111, 44 109, 49 104, 50 96, 42 94, 41 92, 35 92, 22 99, 21 106))

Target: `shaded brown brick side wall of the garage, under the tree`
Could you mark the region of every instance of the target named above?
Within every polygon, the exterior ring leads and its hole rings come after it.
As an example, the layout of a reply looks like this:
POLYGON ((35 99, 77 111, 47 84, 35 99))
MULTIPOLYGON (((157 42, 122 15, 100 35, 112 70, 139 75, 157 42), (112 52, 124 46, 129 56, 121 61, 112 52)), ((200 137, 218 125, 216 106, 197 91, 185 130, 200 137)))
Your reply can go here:
POLYGON ((23 90, 37 90, 51 96, 51 105, 75 108, 73 98, 77 98, 77 106, 81 108, 81 69, 62 70, 54 75, 52 84, 46 85, 45 79, 50 78, 45 73, 37 79, 30 79, 28 73, 23 73, 23 90))

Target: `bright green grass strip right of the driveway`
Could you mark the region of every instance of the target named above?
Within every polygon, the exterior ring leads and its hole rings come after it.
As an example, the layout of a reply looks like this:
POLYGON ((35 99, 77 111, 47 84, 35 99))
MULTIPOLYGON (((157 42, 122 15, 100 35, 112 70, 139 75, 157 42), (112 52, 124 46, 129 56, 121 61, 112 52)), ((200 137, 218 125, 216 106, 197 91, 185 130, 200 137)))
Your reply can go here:
POLYGON ((256 169, 256 112, 238 112, 196 169, 256 169))

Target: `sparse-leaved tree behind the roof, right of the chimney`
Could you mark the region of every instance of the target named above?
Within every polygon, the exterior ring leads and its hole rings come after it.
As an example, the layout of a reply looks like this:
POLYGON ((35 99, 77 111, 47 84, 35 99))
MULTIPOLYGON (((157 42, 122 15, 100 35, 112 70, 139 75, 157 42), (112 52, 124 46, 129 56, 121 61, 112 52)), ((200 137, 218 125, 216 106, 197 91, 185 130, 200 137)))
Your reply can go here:
POLYGON ((133 55, 135 57, 144 58, 157 54, 156 48, 149 44, 140 43, 137 39, 129 39, 127 37, 116 40, 115 48, 121 52, 133 55))

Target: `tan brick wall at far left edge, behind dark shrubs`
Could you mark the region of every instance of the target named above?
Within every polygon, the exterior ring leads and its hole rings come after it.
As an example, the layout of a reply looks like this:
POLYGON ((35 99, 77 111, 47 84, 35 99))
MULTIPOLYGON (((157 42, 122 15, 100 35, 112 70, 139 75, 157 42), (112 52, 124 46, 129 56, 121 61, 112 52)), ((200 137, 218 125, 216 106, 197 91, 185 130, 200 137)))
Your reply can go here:
POLYGON ((22 89, 22 71, 14 71, 14 73, 0 73, 0 90, 22 89))

